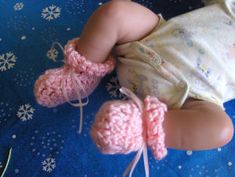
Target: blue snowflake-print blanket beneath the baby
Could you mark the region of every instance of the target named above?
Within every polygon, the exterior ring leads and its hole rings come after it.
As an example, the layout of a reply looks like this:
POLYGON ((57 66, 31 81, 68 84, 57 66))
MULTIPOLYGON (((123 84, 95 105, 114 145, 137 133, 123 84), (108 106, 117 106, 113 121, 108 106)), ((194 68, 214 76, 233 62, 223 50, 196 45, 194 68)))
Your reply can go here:
MULTIPOLYGON (((79 36, 91 13, 105 1, 98 0, 0 0, 0 174, 11 159, 6 177, 118 177, 134 158, 103 155, 93 144, 89 129, 98 108, 118 99, 115 72, 105 77, 84 108, 84 128, 79 109, 64 104, 45 108, 35 102, 33 85, 46 69, 61 66, 59 48, 79 36)), ((199 0, 139 0, 165 19, 203 6, 199 0)), ((235 102, 225 104, 231 119, 235 102)), ((235 142, 210 151, 177 151, 156 161, 149 151, 150 176, 233 177, 235 142)), ((134 176, 143 177, 141 159, 134 176)))

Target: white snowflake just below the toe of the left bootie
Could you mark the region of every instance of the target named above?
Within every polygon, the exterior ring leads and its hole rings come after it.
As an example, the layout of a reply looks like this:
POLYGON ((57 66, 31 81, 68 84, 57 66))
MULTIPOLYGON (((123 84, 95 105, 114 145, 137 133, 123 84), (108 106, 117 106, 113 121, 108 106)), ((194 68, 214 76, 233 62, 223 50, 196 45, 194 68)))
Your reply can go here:
POLYGON ((17 112, 17 116, 20 120, 27 121, 33 119, 34 111, 35 109, 30 104, 21 105, 17 112))

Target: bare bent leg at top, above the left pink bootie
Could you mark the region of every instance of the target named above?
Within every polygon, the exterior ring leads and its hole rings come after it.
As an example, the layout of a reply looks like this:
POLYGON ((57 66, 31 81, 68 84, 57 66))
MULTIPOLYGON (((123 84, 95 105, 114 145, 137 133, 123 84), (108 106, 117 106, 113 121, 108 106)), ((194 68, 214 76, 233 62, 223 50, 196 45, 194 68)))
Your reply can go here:
POLYGON ((113 0, 98 8, 81 33, 77 50, 87 59, 103 62, 115 44, 135 41, 150 33, 159 18, 127 0, 113 0))

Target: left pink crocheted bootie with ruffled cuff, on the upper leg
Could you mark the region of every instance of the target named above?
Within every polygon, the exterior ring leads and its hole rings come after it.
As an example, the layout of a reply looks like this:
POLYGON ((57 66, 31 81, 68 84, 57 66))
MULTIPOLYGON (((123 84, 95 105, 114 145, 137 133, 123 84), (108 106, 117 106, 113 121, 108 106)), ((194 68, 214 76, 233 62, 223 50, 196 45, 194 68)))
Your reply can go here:
POLYGON ((104 63, 94 63, 76 51, 77 39, 64 48, 65 65, 47 70, 35 83, 34 94, 39 104, 55 107, 67 101, 90 95, 101 78, 110 73, 115 60, 110 56, 104 63))

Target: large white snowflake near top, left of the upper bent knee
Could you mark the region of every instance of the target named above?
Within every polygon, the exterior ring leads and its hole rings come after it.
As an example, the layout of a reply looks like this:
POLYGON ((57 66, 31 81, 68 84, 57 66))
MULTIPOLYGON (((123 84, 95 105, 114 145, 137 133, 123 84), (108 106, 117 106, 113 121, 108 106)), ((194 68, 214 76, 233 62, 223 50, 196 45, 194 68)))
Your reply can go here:
POLYGON ((51 21, 60 17, 61 8, 55 5, 51 5, 42 10, 42 18, 45 20, 51 21))

